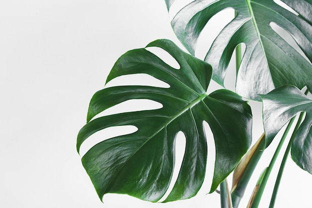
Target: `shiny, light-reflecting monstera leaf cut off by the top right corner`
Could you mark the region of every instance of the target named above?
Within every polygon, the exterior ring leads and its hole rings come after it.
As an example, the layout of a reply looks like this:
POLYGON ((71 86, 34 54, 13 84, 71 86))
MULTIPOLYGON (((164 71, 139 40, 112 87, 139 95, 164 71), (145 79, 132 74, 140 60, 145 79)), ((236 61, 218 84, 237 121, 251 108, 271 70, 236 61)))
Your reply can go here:
MULTIPOLYGON (((234 49, 244 43, 246 50, 237 74, 236 91, 259 100, 258 94, 267 94, 284 84, 301 89, 312 77, 312 0, 282 1, 299 15, 274 0, 193 0, 175 15, 171 24, 182 44, 194 54, 208 20, 226 8, 235 9, 237 15, 216 37, 205 61, 212 65, 212 79, 223 85, 234 49), (276 33, 272 23, 284 28, 310 61, 276 33)), ((165 2, 169 8, 174 0, 165 2)))

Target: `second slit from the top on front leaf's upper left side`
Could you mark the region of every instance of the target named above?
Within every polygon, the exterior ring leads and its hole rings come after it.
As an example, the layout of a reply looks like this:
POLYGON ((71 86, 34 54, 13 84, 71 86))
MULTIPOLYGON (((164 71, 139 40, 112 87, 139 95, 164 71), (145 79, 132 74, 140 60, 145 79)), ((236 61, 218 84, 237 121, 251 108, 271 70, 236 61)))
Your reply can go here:
POLYGON ((127 86, 127 85, 140 85, 140 86, 153 86, 153 87, 162 87, 169 88, 170 85, 164 81, 156 79, 155 77, 149 74, 127 74, 116 77, 109 81, 105 88, 112 86, 127 86))

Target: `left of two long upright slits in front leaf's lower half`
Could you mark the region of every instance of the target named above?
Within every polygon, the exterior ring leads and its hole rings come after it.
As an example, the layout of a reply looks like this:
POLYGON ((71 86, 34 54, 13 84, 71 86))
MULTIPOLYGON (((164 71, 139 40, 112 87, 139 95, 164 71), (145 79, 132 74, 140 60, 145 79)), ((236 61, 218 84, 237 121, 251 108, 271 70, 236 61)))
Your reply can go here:
POLYGON ((177 177, 179 175, 182 161, 185 153, 185 147, 186 147, 186 138, 183 132, 179 131, 175 138, 175 152, 174 152, 174 169, 172 178, 169 184, 169 187, 166 191, 166 193, 162 196, 162 198, 159 200, 159 202, 164 201, 170 194, 170 192, 173 189, 173 186, 177 180, 177 177))

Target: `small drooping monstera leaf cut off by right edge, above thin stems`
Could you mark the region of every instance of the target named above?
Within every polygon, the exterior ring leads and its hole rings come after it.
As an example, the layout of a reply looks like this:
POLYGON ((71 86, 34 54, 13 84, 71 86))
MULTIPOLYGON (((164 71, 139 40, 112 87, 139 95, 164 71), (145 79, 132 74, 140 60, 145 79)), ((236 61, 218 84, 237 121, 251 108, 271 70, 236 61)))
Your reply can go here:
POLYGON ((312 174, 312 100, 292 85, 282 86, 262 97, 267 146, 292 117, 306 112, 293 140, 291 155, 299 167, 312 174))

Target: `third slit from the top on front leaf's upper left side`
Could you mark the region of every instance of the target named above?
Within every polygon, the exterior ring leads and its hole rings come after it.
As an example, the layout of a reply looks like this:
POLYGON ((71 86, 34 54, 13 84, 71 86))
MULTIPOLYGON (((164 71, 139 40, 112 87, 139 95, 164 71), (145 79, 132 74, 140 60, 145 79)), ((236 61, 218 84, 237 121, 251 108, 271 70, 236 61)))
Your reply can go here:
POLYGON ((158 103, 154 100, 149 99, 132 99, 127 100, 122 103, 119 103, 115 106, 112 106, 101 113, 97 114, 92 120, 107 116, 107 115, 113 115, 118 113, 125 113, 125 112, 135 112, 135 111, 144 111, 144 110, 155 110, 162 108, 163 105, 161 103, 158 103))

